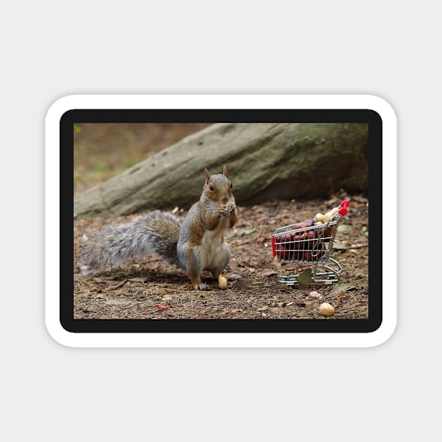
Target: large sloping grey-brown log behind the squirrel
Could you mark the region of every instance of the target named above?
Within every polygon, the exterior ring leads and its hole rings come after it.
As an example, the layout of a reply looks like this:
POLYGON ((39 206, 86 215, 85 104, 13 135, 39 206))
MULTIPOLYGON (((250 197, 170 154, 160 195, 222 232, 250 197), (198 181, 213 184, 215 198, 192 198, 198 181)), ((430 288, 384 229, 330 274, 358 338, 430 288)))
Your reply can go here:
POLYGON ((368 190, 366 123, 216 123, 74 199, 74 216, 189 208, 227 166, 239 206, 368 190))

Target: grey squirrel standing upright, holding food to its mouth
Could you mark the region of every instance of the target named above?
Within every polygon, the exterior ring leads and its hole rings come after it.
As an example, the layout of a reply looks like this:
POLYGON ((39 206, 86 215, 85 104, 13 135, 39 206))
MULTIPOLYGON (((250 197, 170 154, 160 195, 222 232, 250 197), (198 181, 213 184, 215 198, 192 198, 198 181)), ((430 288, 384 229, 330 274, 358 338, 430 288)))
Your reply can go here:
POLYGON ((182 223, 168 212, 154 210, 126 225, 104 227, 83 248, 81 272, 100 273, 107 265, 153 253, 185 270, 196 290, 209 288, 201 282, 203 270, 218 279, 220 288, 225 288, 226 279, 241 279, 236 274, 222 274, 230 260, 224 234, 234 227, 238 217, 227 167, 222 174, 210 175, 207 169, 204 173, 201 198, 182 223))

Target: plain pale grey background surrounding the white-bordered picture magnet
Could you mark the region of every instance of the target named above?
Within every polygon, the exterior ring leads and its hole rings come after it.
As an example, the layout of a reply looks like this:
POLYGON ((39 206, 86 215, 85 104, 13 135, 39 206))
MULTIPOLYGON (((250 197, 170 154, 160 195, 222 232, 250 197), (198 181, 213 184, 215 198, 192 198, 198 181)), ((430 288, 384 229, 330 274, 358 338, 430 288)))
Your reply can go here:
MULTIPOLYGON (((3 6, 5 440, 434 440, 441 395, 440 262, 431 248, 440 243, 436 4, 210 5, 3 6), (52 340, 43 316, 43 129, 47 109, 72 93, 368 93, 387 100, 399 124, 394 335, 370 349, 72 349, 52 340)), ((384 234, 396 234, 396 225, 384 234)))

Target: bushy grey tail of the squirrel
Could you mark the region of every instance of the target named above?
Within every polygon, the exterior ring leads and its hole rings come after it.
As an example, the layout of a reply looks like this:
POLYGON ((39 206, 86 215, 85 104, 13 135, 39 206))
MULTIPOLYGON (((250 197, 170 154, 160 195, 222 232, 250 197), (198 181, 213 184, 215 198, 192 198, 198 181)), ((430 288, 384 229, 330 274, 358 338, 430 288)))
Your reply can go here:
POLYGON ((81 272, 98 273, 135 257, 154 253, 178 265, 180 220, 161 210, 119 227, 107 226, 91 236, 81 253, 81 272))

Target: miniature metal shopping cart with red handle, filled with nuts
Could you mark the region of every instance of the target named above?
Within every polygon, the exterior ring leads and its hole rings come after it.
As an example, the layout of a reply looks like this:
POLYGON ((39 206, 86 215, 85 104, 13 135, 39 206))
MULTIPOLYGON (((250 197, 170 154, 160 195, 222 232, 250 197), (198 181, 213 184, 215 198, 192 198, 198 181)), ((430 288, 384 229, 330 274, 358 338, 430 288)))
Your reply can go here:
MULTIPOLYGON (((333 209, 335 215, 326 222, 319 222, 314 217, 276 229, 272 235, 273 255, 280 261, 300 262, 312 267, 314 282, 331 284, 338 281, 342 267, 331 257, 331 253, 337 225, 347 213, 348 206, 349 201, 342 201, 339 207, 333 209)), ((297 276, 299 274, 281 276, 279 282, 291 286, 297 283, 297 276)))

